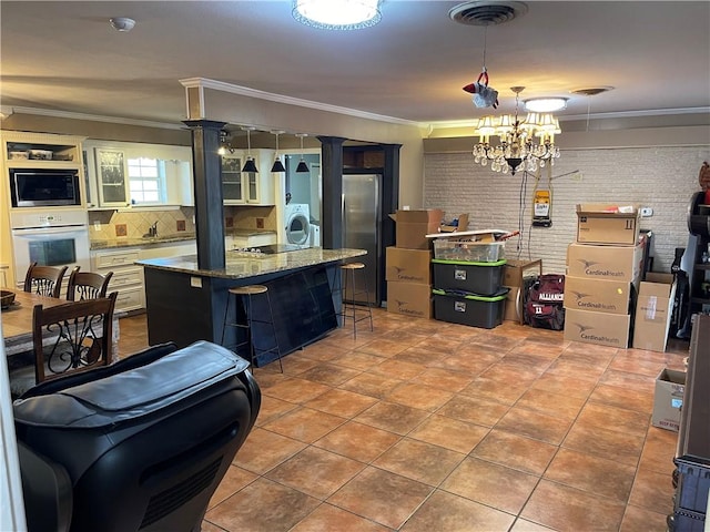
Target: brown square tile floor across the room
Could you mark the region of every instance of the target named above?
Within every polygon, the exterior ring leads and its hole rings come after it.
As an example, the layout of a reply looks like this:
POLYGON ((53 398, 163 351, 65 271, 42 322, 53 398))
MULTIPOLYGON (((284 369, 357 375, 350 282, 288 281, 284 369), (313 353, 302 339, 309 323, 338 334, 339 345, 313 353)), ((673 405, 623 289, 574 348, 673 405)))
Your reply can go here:
MULTIPOLYGON (((263 405, 203 532, 666 531, 659 354, 374 313, 254 371, 263 405)), ((121 320, 120 354, 146 346, 121 320)))

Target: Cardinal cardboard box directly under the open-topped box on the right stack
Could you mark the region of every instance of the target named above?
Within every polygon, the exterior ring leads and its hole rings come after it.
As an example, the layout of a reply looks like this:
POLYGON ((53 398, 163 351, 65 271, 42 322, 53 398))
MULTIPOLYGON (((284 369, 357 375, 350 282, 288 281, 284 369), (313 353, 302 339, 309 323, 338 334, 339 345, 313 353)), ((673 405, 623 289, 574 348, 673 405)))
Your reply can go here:
POLYGON ((638 284, 643 269, 643 244, 595 246, 570 244, 567 248, 567 275, 588 279, 623 280, 638 284))

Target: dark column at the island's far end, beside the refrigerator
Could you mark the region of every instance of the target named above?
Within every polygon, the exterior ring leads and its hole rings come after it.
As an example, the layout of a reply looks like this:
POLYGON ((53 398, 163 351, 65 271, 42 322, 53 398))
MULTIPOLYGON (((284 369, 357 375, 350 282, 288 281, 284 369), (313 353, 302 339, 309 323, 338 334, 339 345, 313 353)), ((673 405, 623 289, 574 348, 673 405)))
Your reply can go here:
POLYGON ((323 174, 323 206, 321 213, 322 247, 343 247, 343 143, 341 136, 318 136, 321 141, 321 172, 323 174))

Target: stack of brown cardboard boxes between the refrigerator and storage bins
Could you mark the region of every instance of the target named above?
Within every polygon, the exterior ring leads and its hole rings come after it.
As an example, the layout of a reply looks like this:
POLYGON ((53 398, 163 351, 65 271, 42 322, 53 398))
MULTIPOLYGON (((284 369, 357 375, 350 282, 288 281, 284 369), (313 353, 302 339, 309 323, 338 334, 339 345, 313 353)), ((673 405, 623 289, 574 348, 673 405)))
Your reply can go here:
POLYGON ((387 311, 432 317, 432 242, 444 217, 439 209, 397 211, 396 246, 386 249, 387 311))

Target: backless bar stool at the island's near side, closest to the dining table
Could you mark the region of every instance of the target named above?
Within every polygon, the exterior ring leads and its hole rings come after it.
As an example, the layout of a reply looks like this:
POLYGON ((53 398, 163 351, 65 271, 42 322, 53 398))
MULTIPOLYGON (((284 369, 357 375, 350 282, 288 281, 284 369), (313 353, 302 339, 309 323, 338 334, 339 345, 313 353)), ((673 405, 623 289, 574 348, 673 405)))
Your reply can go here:
MULTIPOLYGON (((278 347, 278 338, 276 337, 276 326, 274 325, 274 314, 272 311, 272 307, 271 307, 271 298, 268 297, 268 288, 264 285, 247 285, 247 286, 235 286, 233 288, 229 289, 229 295, 227 295, 227 300, 226 300, 226 306, 224 308, 224 325, 222 326, 222 341, 220 342, 222 346, 224 347, 231 347, 233 348, 232 350, 234 352, 236 352, 241 347, 244 346, 248 346, 248 356, 250 356, 250 361, 252 364, 252 366, 254 366, 254 360, 256 358, 256 351, 260 352, 275 352, 276 356, 278 357, 278 367, 281 369, 281 372, 284 372, 284 366, 281 361, 281 349, 278 347), (230 300, 232 299, 232 296, 234 296, 234 303, 235 303, 235 320, 234 321, 229 321, 229 315, 230 315, 230 300), (253 306, 255 300, 253 299, 254 297, 257 296, 265 296, 266 297, 266 306, 268 307, 268 319, 266 319, 266 317, 264 317, 263 319, 255 319, 253 317, 253 306), (246 318, 246 321, 241 323, 240 321, 240 316, 239 316, 239 303, 242 303, 242 309, 244 310, 244 316, 246 318), (270 347, 268 349, 263 349, 261 347, 256 347, 254 345, 253 341, 253 325, 254 324, 265 324, 268 325, 273 331, 273 338, 274 338, 274 346, 270 347), (244 341, 239 341, 239 337, 237 337, 237 341, 236 344, 232 344, 232 345, 225 345, 224 344, 224 336, 225 336, 225 331, 227 327, 235 327, 237 329, 243 329, 246 332, 246 340, 244 341)), ((239 355, 239 354, 237 354, 239 355)))

